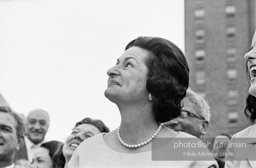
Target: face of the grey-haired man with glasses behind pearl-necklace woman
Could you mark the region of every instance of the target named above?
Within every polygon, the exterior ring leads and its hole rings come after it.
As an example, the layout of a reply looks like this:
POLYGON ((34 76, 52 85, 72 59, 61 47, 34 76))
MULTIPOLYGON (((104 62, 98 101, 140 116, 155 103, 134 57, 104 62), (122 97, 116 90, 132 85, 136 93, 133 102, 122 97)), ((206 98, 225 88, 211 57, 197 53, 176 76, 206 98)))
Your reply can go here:
MULTIPOLYGON (((192 113, 192 115, 195 114, 196 116, 201 117, 197 114, 196 108, 194 104, 190 102, 190 100, 184 98, 182 102, 184 103, 182 110, 189 111, 192 113)), ((166 126, 174 131, 183 131, 197 138, 201 138, 201 135, 204 135, 207 129, 207 127, 205 128, 204 125, 205 121, 203 121, 203 119, 193 117, 192 115, 188 115, 185 118, 177 117, 172 119, 171 121, 168 121, 166 126)))

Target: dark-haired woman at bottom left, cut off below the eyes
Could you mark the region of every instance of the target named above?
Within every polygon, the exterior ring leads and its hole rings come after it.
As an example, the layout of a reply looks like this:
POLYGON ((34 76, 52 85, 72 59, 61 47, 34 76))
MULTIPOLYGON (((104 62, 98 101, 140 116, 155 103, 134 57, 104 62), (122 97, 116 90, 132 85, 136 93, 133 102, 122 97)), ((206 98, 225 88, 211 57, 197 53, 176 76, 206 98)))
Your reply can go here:
POLYGON ((57 140, 51 140, 41 144, 41 146, 36 150, 33 161, 32 168, 63 168, 64 159, 54 159, 56 154, 61 150, 63 142, 57 140))

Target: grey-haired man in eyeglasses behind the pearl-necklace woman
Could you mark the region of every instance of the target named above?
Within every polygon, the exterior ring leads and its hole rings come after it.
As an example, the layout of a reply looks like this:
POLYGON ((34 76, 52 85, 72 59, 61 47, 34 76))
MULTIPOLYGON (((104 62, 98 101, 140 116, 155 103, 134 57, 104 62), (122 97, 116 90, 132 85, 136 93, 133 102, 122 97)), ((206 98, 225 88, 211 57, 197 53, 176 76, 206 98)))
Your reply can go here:
POLYGON ((180 116, 166 122, 166 127, 202 139, 211 117, 209 105, 202 96, 191 89, 187 90, 187 95, 182 102, 184 106, 180 116))

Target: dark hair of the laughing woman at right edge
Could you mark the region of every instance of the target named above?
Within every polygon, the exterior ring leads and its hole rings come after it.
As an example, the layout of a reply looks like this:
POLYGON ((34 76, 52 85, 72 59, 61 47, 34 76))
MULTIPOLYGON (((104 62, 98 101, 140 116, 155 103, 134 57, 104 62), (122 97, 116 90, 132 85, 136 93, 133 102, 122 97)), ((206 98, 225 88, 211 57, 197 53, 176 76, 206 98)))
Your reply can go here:
MULTIPOLYGON (((248 83, 250 83, 251 77, 250 77, 249 70, 247 67, 247 62, 246 62, 246 74, 247 74, 247 81, 248 81, 248 83)), ((249 87, 250 87, 250 85, 249 85, 249 87)), ((244 109, 244 114, 246 117, 248 117, 251 121, 253 121, 255 123, 255 120, 256 120, 256 98, 255 98, 255 96, 253 96, 249 93, 246 98, 246 106, 244 109)))

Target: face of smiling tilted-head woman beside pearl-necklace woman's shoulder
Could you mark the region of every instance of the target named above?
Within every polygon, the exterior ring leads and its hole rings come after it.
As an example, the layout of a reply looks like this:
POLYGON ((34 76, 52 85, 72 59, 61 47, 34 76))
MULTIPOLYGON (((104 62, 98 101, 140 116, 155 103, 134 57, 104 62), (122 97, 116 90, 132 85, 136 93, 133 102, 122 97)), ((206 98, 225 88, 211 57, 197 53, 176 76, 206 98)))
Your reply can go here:
POLYGON ((74 150, 87 138, 100 134, 101 131, 94 125, 84 123, 78 125, 72 130, 72 133, 66 138, 63 146, 63 155, 66 159, 70 159, 74 150))

